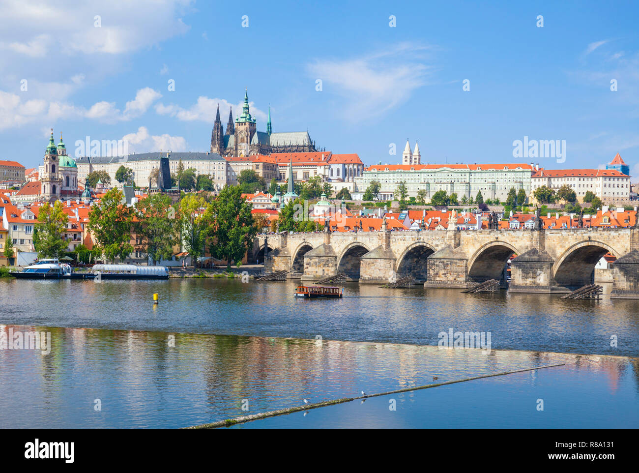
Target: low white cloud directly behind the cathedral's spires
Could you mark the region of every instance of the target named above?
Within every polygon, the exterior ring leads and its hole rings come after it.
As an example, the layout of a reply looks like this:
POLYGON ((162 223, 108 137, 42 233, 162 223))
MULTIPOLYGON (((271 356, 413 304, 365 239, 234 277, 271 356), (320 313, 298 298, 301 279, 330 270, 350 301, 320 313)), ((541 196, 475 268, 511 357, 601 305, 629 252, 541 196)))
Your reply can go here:
MULTIPOLYGON (((218 104, 220 105, 220 119, 222 120, 222 124, 226 126, 231 105, 233 105, 233 118, 236 118, 242 113, 242 105, 244 102, 231 104, 224 98, 200 96, 197 97, 197 102, 188 109, 180 107, 179 105, 164 105, 160 103, 155 105, 155 111, 160 115, 174 116, 180 121, 204 121, 206 123, 213 123, 213 121, 215 121, 218 104)), ((258 109, 254 102, 249 102, 249 112, 252 118, 256 118, 258 121, 266 121, 266 113, 258 109)))

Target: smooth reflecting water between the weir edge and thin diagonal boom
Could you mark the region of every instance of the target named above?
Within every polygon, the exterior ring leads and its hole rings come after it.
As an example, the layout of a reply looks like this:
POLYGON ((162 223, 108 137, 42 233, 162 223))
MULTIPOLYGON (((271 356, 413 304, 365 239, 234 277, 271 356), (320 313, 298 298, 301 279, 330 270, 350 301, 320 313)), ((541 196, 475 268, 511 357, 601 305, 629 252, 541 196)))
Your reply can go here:
MULTIPOLYGON (((8 333, 12 327, 0 330, 8 333)), ((51 332, 49 355, 0 350, 0 423, 5 427, 181 427, 247 414, 242 399, 248 399, 249 412, 261 412, 301 405, 304 398, 317 402, 431 384, 433 376, 442 382, 557 361, 571 366, 574 379, 590 372, 605 376, 611 396, 626 393, 630 385, 637 406, 637 361, 617 357, 35 329, 51 332), (95 410, 96 399, 102 410, 95 410)), ((486 399, 483 391, 474 396, 478 402, 486 399)))

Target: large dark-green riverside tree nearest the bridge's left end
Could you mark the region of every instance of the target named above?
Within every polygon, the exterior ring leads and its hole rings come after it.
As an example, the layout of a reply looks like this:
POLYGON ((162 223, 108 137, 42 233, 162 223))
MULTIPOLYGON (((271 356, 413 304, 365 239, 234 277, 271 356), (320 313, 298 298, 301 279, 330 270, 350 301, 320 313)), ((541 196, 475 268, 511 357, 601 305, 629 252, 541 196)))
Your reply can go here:
POLYGON ((253 238, 257 233, 253 215, 250 213, 252 205, 242 197, 242 190, 238 186, 225 186, 219 196, 208 208, 213 222, 207 236, 212 238, 211 254, 220 260, 226 260, 227 266, 235 261, 239 267, 253 238))

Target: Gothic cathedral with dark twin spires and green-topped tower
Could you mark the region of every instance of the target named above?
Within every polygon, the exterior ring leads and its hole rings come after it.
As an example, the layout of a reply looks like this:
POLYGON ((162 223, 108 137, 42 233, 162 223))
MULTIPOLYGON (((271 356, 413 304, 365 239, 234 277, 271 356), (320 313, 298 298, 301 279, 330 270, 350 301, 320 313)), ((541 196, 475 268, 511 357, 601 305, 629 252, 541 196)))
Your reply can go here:
POLYGON ((221 156, 245 157, 250 155, 270 155, 270 153, 312 153, 316 151, 308 132, 273 133, 271 109, 268 107, 266 132, 258 132, 256 120, 250 116, 249 93, 244 94, 242 115, 233 121, 233 108, 229 111, 226 133, 220 120, 220 105, 211 134, 211 152, 221 156))

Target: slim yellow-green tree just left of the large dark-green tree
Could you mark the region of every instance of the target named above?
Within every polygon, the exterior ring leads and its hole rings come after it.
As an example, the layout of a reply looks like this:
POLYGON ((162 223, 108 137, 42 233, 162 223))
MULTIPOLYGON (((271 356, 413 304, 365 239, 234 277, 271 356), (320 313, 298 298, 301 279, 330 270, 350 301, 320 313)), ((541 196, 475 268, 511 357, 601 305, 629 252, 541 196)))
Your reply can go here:
POLYGON ((177 221, 180 241, 194 265, 197 258, 204 254, 204 241, 210 222, 203 215, 208 207, 204 198, 197 194, 186 194, 180 200, 177 221))

